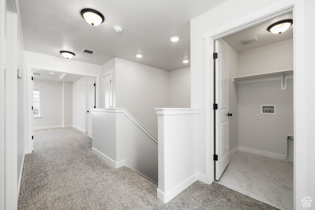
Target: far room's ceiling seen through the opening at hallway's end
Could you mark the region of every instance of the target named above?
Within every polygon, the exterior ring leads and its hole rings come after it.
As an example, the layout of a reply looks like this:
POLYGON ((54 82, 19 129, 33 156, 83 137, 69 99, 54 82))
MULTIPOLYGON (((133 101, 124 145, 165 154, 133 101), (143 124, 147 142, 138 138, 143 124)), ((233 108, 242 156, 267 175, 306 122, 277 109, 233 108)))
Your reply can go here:
POLYGON ((63 74, 58 72, 53 72, 54 74, 50 74, 51 71, 43 71, 43 70, 33 70, 33 73, 38 73, 40 75, 33 75, 34 80, 45 80, 52 82, 74 82, 80 79, 82 76, 74 75, 74 74, 63 74), (60 79, 61 77, 61 79, 60 79))

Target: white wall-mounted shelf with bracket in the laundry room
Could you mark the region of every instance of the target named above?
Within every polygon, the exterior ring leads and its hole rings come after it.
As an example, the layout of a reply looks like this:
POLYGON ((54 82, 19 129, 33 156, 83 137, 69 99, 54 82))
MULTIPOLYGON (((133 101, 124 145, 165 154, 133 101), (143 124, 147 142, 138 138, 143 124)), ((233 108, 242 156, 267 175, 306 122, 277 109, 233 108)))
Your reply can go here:
MULTIPOLYGON (((293 69, 284 70, 284 71, 274 71, 269 73, 263 73, 263 74, 255 74, 255 75, 249 75, 249 76, 243 76, 243 77, 234 77, 233 81, 237 84, 243 84, 243 83, 249 83, 249 82, 262 82, 262 81, 271 81, 271 80, 278 80, 281 79, 281 82, 285 80, 285 86, 286 86, 286 79, 293 78, 293 69), (284 73, 284 74, 282 74, 284 73)), ((284 83, 282 83, 284 86, 284 83)))

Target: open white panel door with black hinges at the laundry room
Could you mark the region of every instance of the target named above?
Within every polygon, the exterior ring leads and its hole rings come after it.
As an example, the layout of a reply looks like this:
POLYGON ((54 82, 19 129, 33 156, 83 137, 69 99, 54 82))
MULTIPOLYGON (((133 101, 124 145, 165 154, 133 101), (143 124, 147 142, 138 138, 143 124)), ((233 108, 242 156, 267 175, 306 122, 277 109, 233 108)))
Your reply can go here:
POLYGON ((228 123, 228 64, 229 57, 222 45, 215 41, 215 179, 219 180, 229 164, 229 123, 228 123))

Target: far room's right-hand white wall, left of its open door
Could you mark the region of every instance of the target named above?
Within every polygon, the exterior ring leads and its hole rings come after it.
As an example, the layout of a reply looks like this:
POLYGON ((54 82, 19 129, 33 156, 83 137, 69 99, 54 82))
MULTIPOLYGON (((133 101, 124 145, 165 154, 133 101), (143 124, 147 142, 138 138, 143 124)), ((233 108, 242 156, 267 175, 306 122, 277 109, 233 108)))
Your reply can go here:
POLYGON ((72 125, 74 128, 85 132, 86 117, 86 85, 85 82, 94 79, 92 77, 81 77, 72 82, 72 125))

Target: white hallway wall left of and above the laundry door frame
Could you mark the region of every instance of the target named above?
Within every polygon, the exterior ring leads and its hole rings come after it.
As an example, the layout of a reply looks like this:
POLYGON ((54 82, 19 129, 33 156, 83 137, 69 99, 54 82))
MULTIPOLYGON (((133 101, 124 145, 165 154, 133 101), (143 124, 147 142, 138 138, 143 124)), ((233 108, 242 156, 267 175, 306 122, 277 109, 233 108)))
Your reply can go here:
MULTIPOLYGON (((203 33, 233 21, 246 14, 270 5, 277 0, 266 0, 253 2, 251 0, 227 0, 217 7, 201 14, 190 22, 190 46, 191 46, 191 107, 199 108, 198 113, 198 172, 206 173, 205 136, 209 128, 205 128, 206 109, 205 107, 205 40, 203 33), (246 5, 244 7, 243 5, 246 5), (225 14, 225 15, 222 15, 225 14), (215 21, 209 21, 215 20, 215 21)), ((212 105, 212 99, 210 104, 212 105)), ((210 119, 211 120, 211 119, 210 119)), ((209 134, 210 135, 210 134, 209 134)))

